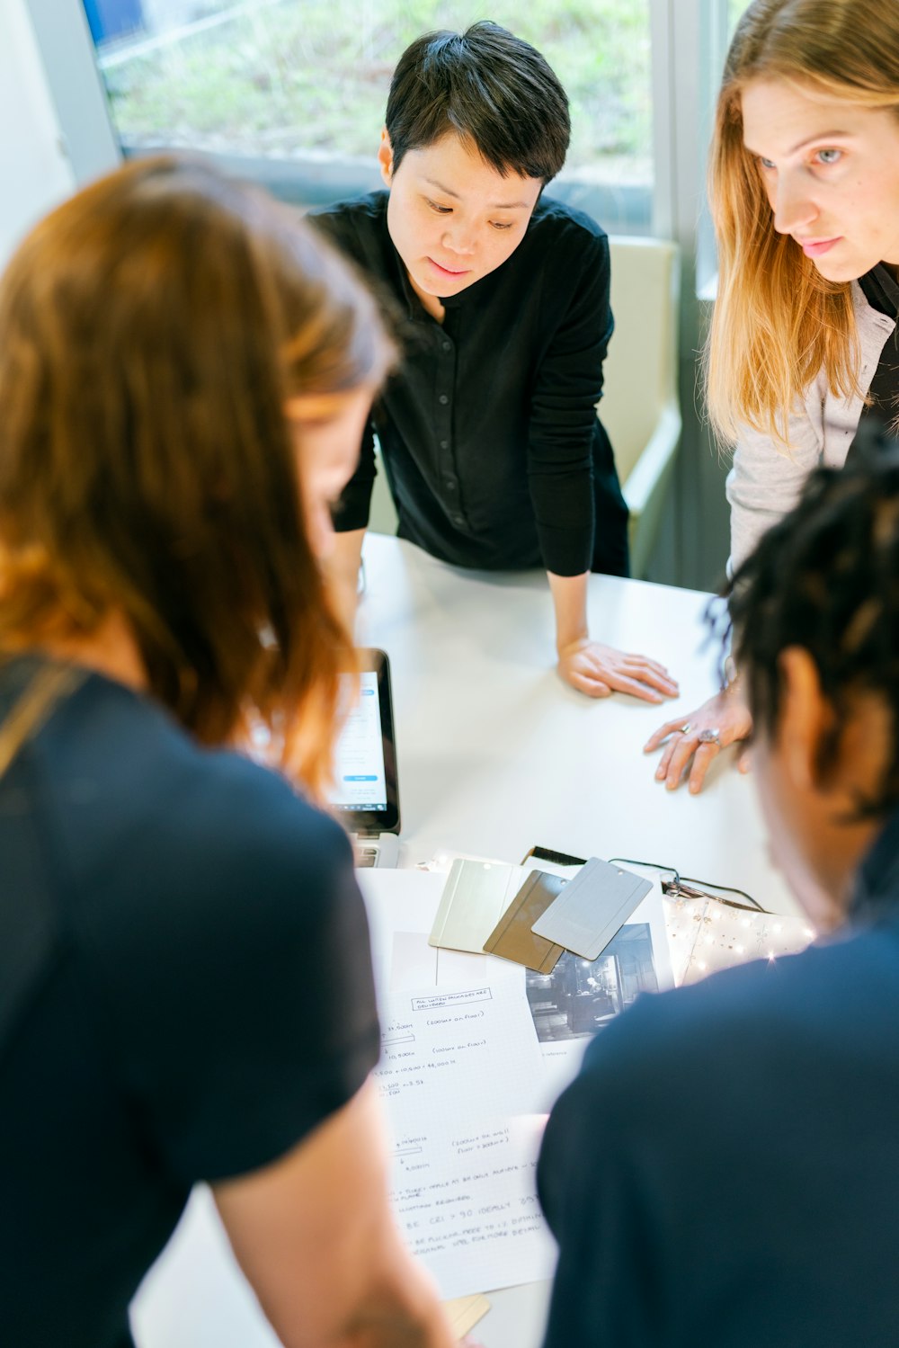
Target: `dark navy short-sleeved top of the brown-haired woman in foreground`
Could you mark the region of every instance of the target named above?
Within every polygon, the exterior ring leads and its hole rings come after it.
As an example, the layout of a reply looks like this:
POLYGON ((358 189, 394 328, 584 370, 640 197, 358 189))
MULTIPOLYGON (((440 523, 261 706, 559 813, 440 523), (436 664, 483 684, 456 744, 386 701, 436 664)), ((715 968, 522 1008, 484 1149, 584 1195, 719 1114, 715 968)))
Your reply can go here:
POLYGON ((0 1343, 124 1348, 194 1181, 275 1161, 377 1060, 349 842, 86 675, 0 778, 0 1343))

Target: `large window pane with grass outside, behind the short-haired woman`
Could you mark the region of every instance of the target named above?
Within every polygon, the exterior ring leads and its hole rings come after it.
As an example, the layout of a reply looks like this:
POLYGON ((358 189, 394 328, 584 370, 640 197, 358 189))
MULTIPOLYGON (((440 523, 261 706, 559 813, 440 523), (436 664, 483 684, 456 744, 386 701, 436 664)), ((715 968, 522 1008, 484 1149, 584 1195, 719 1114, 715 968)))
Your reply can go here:
POLYGON ((532 42, 571 101, 554 186, 609 229, 648 229, 648 0, 84 0, 125 154, 190 147, 241 160, 282 195, 379 185, 387 89, 403 49, 484 12, 532 42))

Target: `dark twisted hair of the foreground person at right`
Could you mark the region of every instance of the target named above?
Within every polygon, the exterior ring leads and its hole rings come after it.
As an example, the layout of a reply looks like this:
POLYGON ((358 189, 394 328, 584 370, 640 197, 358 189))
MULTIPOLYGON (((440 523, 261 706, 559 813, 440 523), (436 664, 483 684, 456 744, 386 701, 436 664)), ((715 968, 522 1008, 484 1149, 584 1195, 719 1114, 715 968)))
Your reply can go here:
POLYGON ((768 735, 780 724, 780 654, 790 646, 809 652, 837 713, 822 768, 836 756, 852 698, 883 700, 892 743, 877 794, 857 801, 857 817, 871 818, 899 802, 899 443, 868 422, 860 437, 857 461, 811 473, 728 599, 749 709, 768 735))

